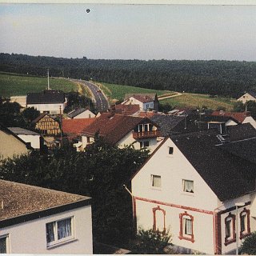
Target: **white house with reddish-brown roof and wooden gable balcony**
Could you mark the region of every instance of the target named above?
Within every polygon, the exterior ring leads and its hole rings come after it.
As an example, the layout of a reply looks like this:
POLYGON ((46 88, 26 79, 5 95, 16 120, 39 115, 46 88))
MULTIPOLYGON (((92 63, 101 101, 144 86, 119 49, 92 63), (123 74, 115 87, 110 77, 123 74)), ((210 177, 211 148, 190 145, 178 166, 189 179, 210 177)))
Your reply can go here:
POLYGON ((160 135, 158 126, 149 118, 110 113, 102 113, 83 130, 83 148, 94 142, 95 134, 121 148, 133 145, 135 149, 147 148, 151 152, 156 148, 160 135))

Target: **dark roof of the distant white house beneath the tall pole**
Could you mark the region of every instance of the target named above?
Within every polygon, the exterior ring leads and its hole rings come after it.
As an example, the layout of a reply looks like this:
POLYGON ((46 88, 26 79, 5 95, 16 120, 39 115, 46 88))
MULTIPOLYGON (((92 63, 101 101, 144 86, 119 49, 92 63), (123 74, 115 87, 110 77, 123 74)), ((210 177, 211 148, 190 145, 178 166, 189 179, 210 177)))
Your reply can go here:
POLYGON ((65 94, 62 90, 43 90, 40 93, 29 93, 26 104, 57 104, 65 102, 65 94))

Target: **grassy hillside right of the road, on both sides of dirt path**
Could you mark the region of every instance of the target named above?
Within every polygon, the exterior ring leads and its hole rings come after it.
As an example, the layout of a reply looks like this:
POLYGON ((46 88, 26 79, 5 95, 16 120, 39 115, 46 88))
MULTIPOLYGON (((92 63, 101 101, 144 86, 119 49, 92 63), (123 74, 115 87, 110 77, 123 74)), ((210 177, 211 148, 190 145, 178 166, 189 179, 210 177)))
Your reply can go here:
MULTIPOLYGON (((98 83, 98 86, 104 91, 104 93, 110 98, 122 100, 125 94, 131 93, 157 93, 158 96, 161 95, 174 95, 175 92, 168 90, 150 90, 145 88, 138 88, 134 86, 119 86, 108 83, 98 83)), ((206 106, 208 109, 217 110, 232 110, 234 106, 234 99, 231 98, 211 98, 206 94, 182 94, 177 97, 166 98, 160 101, 161 104, 169 103, 174 107, 193 107, 202 108, 206 106)))

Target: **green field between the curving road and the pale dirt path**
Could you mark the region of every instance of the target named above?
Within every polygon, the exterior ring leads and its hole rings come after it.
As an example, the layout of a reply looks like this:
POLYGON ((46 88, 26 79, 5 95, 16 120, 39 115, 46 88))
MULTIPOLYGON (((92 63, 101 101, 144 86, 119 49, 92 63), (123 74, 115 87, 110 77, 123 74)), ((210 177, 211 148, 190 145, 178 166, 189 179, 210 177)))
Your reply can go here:
POLYGON ((97 83, 110 100, 123 100, 125 94, 174 94, 170 90, 151 90, 134 86, 120 86, 110 83, 97 83))

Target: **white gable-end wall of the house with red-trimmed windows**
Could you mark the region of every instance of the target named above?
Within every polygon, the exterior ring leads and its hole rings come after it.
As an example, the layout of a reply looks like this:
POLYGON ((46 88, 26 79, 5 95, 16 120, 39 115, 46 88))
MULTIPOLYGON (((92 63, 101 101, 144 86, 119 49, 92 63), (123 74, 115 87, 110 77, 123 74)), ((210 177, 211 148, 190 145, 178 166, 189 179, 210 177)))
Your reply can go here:
POLYGON ((213 212, 219 204, 218 198, 170 138, 132 179, 132 193, 151 201, 136 200, 138 227, 152 228, 152 209, 159 205, 166 210, 166 228, 170 227, 175 245, 214 254, 213 214, 201 213, 200 210, 213 212), (174 154, 169 154, 169 146, 174 147, 174 154), (161 176, 161 189, 152 188, 151 174, 161 176), (193 194, 182 191, 182 179, 194 181, 193 194), (165 206, 164 203, 175 206, 165 206), (184 210, 183 206, 197 210, 184 210), (194 217, 194 242, 178 238, 179 214, 185 211, 194 217))

